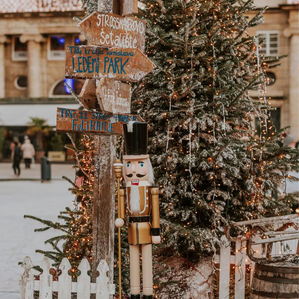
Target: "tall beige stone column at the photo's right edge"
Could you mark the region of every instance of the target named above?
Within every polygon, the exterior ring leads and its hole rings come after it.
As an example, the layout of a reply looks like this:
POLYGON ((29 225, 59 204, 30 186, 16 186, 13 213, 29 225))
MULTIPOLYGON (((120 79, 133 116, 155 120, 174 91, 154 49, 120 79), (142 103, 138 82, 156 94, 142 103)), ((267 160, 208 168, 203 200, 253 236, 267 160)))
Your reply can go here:
POLYGON ((284 35, 290 38, 289 51, 289 125, 290 134, 299 139, 299 32, 298 10, 289 11, 289 27, 284 35))

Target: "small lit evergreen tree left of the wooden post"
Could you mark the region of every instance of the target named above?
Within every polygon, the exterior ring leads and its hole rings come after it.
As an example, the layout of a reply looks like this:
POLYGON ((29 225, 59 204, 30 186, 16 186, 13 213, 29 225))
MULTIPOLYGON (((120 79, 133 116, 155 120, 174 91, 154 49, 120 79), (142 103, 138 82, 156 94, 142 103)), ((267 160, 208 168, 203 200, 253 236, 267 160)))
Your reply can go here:
POLYGON ((74 209, 66 207, 65 211, 60 212, 60 215, 57 217, 63 220, 63 223, 54 223, 30 215, 24 215, 24 217, 35 219, 45 225, 43 228, 35 229, 35 232, 46 231, 50 228, 62 232, 62 235, 45 241, 45 244, 51 244, 53 250, 36 250, 36 252, 52 259, 54 261, 53 266, 55 267, 58 267, 61 260, 67 257, 71 263, 72 272, 75 274, 80 261, 84 257, 90 260, 92 256, 94 143, 88 135, 83 135, 79 146, 75 145, 72 138, 71 141, 73 146, 66 147, 74 151, 74 156, 68 158, 75 158, 76 164, 73 168, 80 169, 83 174, 80 185, 63 176, 63 179, 69 181, 72 185, 69 190, 74 194, 74 209))

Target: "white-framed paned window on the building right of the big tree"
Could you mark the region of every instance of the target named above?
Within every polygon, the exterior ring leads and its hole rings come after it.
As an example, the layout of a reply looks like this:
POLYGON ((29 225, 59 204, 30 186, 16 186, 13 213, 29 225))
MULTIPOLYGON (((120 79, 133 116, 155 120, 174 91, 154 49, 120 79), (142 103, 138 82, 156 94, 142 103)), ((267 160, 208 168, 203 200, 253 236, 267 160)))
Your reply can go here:
POLYGON ((257 31, 259 41, 266 39, 261 45, 259 53, 261 55, 271 56, 278 55, 279 32, 278 31, 257 31))

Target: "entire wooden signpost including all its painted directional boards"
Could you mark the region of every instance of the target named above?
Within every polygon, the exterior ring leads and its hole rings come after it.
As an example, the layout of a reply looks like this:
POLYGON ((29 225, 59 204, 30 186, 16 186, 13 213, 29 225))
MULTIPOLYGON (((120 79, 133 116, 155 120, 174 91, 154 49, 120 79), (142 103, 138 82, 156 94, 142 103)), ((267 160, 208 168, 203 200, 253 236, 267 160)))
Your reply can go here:
MULTIPOLYGON (((116 135, 123 134, 123 123, 144 121, 131 115, 131 87, 116 80, 137 82, 155 65, 144 54, 145 21, 125 17, 137 13, 137 0, 98 0, 98 11, 78 27, 97 46, 68 46, 65 78, 87 79, 80 93, 83 111, 57 108, 57 131, 91 133, 94 138, 94 194, 92 226, 92 280, 100 260, 109 266, 113 283, 116 135), (117 3, 120 3, 119 6, 117 3), (120 12, 122 16, 113 14, 120 12)), ((120 240, 120 239, 119 239, 120 240)), ((119 252, 119 293, 121 297, 119 252)), ((112 299, 112 295, 105 295, 112 299)))

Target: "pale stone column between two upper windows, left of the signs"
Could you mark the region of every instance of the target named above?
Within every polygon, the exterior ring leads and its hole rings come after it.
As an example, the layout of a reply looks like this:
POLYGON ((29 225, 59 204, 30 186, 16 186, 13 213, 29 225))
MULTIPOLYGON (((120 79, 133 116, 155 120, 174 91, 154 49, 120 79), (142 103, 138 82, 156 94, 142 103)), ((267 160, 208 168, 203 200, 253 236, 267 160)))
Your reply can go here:
POLYGON ((21 42, 27 42, 28 97, 42 97, 41 45, 44 38, 40 34, 23 34, 21 42))

